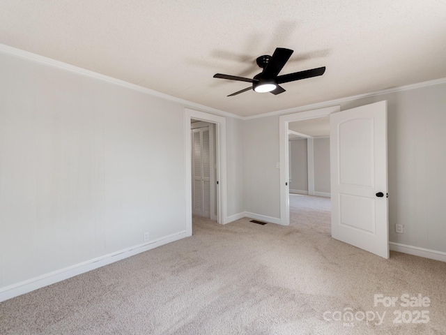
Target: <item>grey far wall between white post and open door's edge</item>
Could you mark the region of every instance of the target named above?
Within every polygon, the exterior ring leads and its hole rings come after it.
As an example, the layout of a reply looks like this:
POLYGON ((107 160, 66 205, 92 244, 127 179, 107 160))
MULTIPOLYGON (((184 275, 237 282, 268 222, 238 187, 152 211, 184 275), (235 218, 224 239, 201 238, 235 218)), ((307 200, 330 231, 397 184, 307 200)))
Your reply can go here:
POLYGON ((330 137, 313 140, 314 192, 330 193, 330 137))

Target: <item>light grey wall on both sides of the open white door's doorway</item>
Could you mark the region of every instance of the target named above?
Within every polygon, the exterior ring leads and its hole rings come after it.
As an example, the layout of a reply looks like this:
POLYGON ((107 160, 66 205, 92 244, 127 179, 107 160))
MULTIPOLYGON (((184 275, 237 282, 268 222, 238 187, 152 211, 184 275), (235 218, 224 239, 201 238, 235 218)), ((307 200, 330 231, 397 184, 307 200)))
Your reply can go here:
MULTIPOLYGON (((387 100, 390 241, 446 252, 446 84, 343 102, 387 100), (404 234, 395 224, 404 225, 404 234)), ((246 207, 279 218, 278 116, 245 120, 246 207), (258 194, 259 196, 255 196, 258 194), (249 200, 248 200, 249 198, 249 200)))

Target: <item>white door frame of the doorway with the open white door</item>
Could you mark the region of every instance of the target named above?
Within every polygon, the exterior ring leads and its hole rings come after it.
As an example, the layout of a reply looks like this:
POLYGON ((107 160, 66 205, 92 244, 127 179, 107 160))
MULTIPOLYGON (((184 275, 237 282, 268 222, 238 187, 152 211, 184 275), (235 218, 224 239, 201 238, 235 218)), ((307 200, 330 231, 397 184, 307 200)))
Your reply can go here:
POLYGON ((332 113, 340 112, 341 106, 319 108, 279 116, 279 161, 280 161, 280 224, 290 224, 290 201, 289 201, 289 123, 326 117, 332 113))

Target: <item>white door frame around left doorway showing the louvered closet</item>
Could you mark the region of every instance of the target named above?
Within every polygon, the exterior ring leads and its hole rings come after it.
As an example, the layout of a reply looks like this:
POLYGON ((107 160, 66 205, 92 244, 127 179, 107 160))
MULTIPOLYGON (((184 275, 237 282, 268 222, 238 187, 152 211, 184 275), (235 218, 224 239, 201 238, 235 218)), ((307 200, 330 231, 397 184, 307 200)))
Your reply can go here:
POLYGON ((190 136, 190 120, 215 124, 215 156, 217 161, 217 223, 227 222, 226 197, 226 119, 214 114, 199 112, 185 108, 184 112, 184 143, 185 143, 185 216, 186 234, 192 236, 192 143, 190 136))

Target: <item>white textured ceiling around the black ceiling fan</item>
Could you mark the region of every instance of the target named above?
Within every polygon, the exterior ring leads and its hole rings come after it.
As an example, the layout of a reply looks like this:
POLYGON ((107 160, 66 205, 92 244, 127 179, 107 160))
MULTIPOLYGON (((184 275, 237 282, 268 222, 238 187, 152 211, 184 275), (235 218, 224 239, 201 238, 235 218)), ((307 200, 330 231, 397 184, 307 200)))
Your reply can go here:
POLYGON ((0 43, 243 117, 446 77, 445 0, 1 0, 0 43), (256 57, 321 77, 259 94, 256 57))

